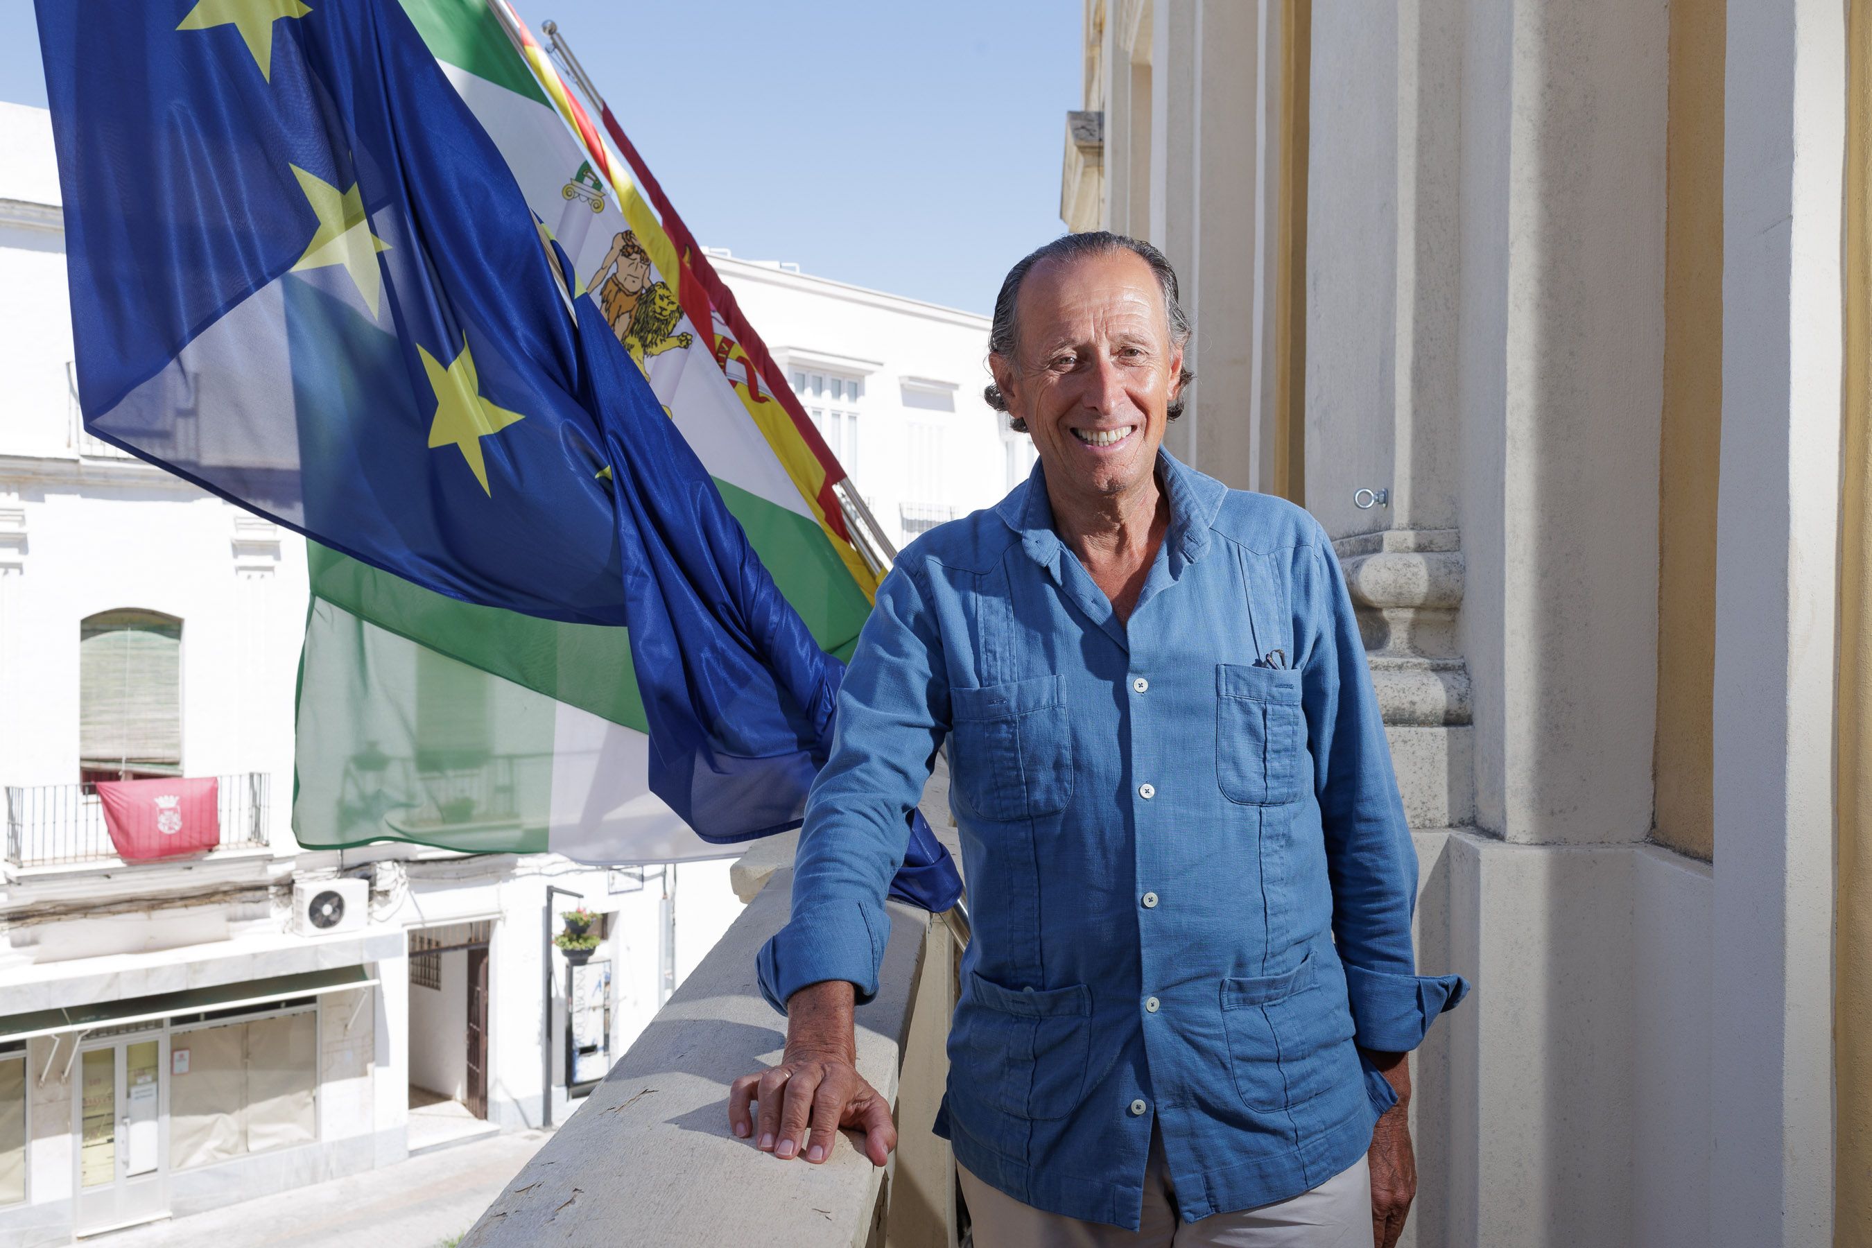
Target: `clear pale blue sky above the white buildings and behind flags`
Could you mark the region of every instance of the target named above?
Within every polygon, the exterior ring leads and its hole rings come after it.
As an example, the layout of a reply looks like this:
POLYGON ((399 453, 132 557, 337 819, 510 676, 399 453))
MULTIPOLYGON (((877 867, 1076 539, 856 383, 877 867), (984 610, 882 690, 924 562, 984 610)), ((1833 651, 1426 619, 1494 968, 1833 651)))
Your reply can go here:
MULTIPOLYGON (((1063 228, 1080 0, 513 4, 560 24, 709 247, 987 312, 1063 228)), ((45 107, 30 0, 0 0, 0 99, 45 107)))

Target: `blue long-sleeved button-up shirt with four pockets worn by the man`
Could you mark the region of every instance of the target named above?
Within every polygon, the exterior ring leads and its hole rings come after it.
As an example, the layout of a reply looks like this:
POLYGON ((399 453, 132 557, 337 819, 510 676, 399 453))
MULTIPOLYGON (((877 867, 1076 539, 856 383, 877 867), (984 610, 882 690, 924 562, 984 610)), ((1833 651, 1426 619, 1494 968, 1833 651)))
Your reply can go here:
POLYGON ((983 1183, 1136 1229, 1153 1121, 1179 1212, 1352 1166, 1462 999, 1419 977, 1417 855, 1318 522, 1159 453, 1170 528, 1121 623, 1045 472, 878 589, 807 799, 775 1005, 878 988, 885 889, 947 739, 973 939, 938 1132, 983 1183))

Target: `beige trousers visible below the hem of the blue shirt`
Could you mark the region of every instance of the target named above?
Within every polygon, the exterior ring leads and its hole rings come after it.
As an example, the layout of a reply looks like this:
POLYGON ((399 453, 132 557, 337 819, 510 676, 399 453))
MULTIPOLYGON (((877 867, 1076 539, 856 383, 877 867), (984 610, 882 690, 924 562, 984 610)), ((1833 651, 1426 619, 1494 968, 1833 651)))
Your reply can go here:
POLYGON ((1310 1192, 1273 1205, 1177 1222, 1164 1145, 1151 1130, 1144 1220, 1136 1231, 1022 1205, 957 1166, 975 1226, 975 1248, 1368 1248, 1372 1175, 1361 1156, 1310 1192))

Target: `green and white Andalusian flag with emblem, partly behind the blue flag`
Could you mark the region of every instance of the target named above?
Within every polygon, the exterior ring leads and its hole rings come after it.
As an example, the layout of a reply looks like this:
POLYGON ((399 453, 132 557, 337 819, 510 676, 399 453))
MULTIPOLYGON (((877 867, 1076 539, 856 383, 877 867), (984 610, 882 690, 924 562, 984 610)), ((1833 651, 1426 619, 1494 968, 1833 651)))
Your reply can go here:
MULTIPOLYGON (((758 397, 751 404, 715 361, 715 327, 683 312, 681 260, 655 217, 635 189, 612 185, 622 181, 614 165, 605 167, 610 180, 593 172, 590 148, 487 0, 402 6, 775 584, 814 640, 846 657, 870 610, 863 569, 831 539, 797 457, 756 423, 758 397)), ((650 791, 650 737, 623 629, 466 604, 316 544, 309 571, 292 812, 300 844, 408 840, 618 864, 728 851, 650 791)))

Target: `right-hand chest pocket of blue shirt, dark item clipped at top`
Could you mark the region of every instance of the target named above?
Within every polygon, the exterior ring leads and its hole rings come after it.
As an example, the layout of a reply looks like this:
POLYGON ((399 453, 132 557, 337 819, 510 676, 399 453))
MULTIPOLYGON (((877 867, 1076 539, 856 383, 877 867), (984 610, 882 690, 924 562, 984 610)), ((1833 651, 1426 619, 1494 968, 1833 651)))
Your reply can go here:
POLYGON ((1299 672, 1215 664, 1215 782, 1222 797, 1280 806, 1305 793, 1299 672))

